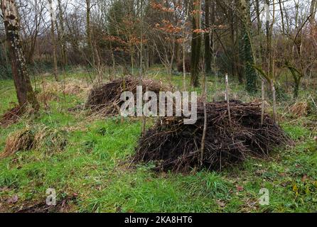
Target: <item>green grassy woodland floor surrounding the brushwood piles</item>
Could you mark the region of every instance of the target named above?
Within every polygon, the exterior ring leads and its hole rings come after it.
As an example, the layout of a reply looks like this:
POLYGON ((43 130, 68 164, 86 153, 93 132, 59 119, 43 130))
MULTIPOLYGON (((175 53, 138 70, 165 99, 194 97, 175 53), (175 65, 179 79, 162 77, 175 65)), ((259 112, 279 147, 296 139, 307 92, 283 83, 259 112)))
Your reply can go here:
MULTIPOLYGON (((163 79, 161 68, 149 71, 149 77, 163 79), (161 71, 159 71, 161 70, 161 71)), ((47 108, 38 116, 21 118, 8 128, 0 128, 0 151, 10 133, 27 126, 63 131, 63 151, 20 151, 0 160, 0 211, 48 212, 316 212, 317 211, 317 135, 315 114, 297 116, 288 111, 296 101, 285 92, 279 101, 279 122, 294 140, 294 147, 278 148, 268 159, 249 159, 222 172, 175 174, 153 172, 151 164, 130 167, 129 160, 141 134, 138 119, 98 118, 86 111, 68 111, 85 102, 89 74, 75 71, 63 74, 67 92, 56 91, 53 77, 36 79, 41 94, 42 80, 50 91, 47 108), (51 84, 51 86, 50 86, 51 84), (46 189, 57 192, 58 206, 45 206, 46 189), (259 190, 269 189, 269 205, 259 205, 259 190)), ((181 75, 172 83, 181 87, 181 75)), ((208 77, 208 95, 223 99, 223 79, 208 77)), ((232 98, 248 96, 244 87, 230 82, 232 98), (242 91, 242 92, 241 92, 242 91)), ((199 92, 199 91, 198 91, 199 92)), ((283 92, 282 92, 283 93, 283 92)), ((302 89, 300 99, 312 94, 302 89)), ((211 98, 210 98, 211 99, 211 98)), ((316 100, 316 99, 315 99, 316 100)), ((0 81, 0 115, 14 107, 16 93, 12 80, 0 81)), ((268 107, 268 111, 270 108, 268 107)), ((148 121, 148 125, 154 121, 148 121)), ((47 141, 49 143, 49 141, 47 141)))

